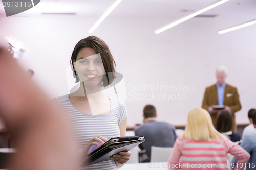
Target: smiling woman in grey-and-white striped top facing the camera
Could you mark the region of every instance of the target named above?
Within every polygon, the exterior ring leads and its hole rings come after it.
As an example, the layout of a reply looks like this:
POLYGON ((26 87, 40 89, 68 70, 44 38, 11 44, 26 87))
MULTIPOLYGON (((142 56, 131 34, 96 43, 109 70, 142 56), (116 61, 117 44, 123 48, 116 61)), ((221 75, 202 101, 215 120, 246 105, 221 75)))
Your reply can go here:
MULTIPOLYGON (((80 40, 70 63, 80 87, 56 98, 56 102, 71 119, 80 152, 85 156, 108 139, 125 136, 128 113, 122 101, 101 90, 114 81, 116 66, 103 40, 95 36, 80 40)), ((112 160, 90 165, 88 169, 117 169, 130 155, 130 151, 120 152, 113 155, 112 160)))

